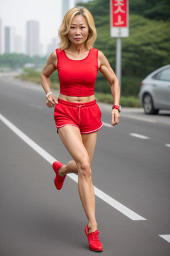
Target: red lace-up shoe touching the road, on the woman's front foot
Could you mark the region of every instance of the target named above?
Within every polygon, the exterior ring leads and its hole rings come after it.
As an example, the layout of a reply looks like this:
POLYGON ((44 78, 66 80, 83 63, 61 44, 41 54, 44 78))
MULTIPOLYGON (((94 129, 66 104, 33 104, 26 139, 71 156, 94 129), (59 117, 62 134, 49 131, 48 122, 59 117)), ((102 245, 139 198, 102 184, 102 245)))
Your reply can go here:
POLYGON ((88 243, 89 243, 90 250, 103 251, 103 245, 102 245, 102 243, 100 243, 100 241, 98 239, 98 233, 99 233, 98 230, 96 230, 92 233, 88 233, 88 225, 86 225, 84 231, 88 237, 88 243))

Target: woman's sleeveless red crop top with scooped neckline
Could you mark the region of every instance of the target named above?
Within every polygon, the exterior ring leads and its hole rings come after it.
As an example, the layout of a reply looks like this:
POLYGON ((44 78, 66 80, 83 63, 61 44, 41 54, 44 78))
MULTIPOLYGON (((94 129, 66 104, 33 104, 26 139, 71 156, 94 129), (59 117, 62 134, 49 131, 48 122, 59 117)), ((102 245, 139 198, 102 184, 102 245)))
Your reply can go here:
POLYGON ((64 50, 56 49, 60 93, 68 96, 86 97, 94 95, 94 85, 98 74, 98 49, 90 49, 88 56, 72 60, 64 50))

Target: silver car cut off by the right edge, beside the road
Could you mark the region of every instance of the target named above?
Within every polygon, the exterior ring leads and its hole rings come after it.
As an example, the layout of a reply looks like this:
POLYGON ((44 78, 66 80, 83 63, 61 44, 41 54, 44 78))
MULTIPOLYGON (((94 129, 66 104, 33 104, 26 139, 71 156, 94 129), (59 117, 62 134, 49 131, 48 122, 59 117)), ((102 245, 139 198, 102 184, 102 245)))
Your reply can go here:
POLYGON ((170 65, 160 67, 141 81, 139 100, 146 114, 170 110, 170 65))

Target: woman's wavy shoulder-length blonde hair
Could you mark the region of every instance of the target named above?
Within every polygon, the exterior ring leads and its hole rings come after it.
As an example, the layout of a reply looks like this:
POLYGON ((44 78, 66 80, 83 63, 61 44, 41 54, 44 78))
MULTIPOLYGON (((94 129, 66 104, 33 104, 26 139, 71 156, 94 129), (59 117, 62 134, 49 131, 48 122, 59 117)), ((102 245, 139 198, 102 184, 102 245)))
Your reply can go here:
POLYGON ((94 41, 96 40, 97 33, 96 33, 96 27, 95 27, 95 24, 94 24, 94 19, 92 17, 92 14, 85 7, 76 6, 72 9, 70 9, 64 15, 62 25, 60 26, 60 29, 58 30, 58 36, 60 37, 59 47, 60 47, 61 50, 68 49, 68 47, 70 45, 70 40, 68 39, 68 31, 70 29, 72 19, 76 15, 84 16, 86 18, 87 23, 88 23, 89 35, 88 35, 88 39, 84 43, 86 48, 90 49, 92 47, 92 45, 94 44, 94 41))

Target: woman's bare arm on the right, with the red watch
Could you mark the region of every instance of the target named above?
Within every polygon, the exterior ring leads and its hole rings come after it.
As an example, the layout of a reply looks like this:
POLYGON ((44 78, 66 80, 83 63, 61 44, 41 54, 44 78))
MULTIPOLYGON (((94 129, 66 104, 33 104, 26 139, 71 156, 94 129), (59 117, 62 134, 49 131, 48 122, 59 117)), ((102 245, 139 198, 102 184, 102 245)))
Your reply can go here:
MULTIPOLYGON (((98 68, 110 83, 114 105, 120 105, 120 85, 108 59, 101 51, 98 51, 98 68)), ((112 109, 112 126, 118 125, 120 121, 120 113, 118 109, 112 109)))

